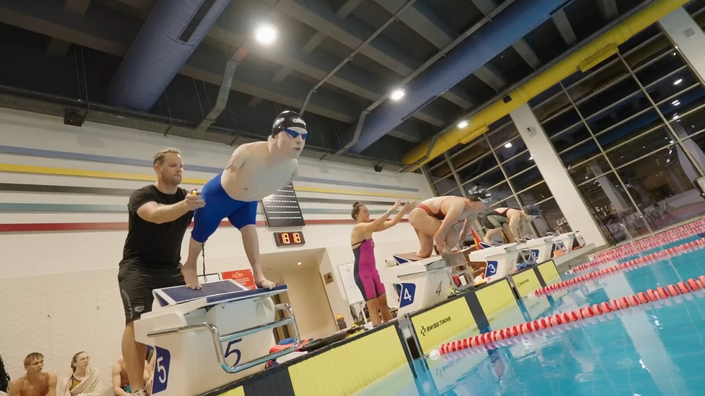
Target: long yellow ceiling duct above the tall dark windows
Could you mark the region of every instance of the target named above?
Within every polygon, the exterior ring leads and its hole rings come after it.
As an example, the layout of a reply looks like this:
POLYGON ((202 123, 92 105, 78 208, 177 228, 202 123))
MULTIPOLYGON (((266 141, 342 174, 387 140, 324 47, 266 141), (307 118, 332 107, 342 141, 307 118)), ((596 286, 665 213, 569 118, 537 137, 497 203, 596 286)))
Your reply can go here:
MULTIPOLYGON (((536 97, 546 89, 558 84, 560 80, 575 73, 581 65, 583 67, 587 67, 590 64, 592 64, 592 66, 596 65, 599 62, 591 62, 591 58, 596 61, 597 58, 609 52, 605 51, 609 47, 623 44, 627 39, 630 39, 638 32, 646 29, 646 27, 658 22, 663 16, 668 15, 687 2, 688 0, 656 0, 653 4, 649 4, 649 6, 646 6, 643 10, 635 13, 633 16, 627 18, 607 32, 604 32, 602 35, 599 35, 599 37, 593 41, 580 47, 580 49, 577 49, 572 54, 558 61, 558 63, 546 69, 543 73, 510 92, 509 96, 512 97, 512 100, 509 103, 504 103, 502 99, 499 99, 472 116, 468 121, 467 127, 462 129, 453 128, 441 135, 436 140, 436 144, 431 148, 429 158, 422 161, 420 165, 443 154, 459 142, 470 142, 474 137, 482 135, 482 133, 486 131, 486 128, 484 128, 485 125, 494 123, 496 120, 499 120, 503 116, 508 115, 520 106, 526 104, 529 99, 536 97)), ((430 144, 430 139, 418 144, 405 154, 403 157, 404 163, 412 164, 422 159, 426 155, 430 144)), ((414 166, 410 171, 414 171, 418 167, 419 166, 414 166)))

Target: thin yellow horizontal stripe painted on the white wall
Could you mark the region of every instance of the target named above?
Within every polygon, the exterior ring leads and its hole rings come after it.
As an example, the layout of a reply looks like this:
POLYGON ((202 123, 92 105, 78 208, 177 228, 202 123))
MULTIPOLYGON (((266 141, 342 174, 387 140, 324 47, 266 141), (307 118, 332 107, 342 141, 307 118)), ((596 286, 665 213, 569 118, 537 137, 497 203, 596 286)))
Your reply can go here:
MULTIPOLYGON (((15 173, 35 173, 39 175, 60 175, 60 176, 79 176, 82 178, 101 178, 101 179, 120 179, 120 180, 142 180, 154 181, 154 175, 144 175, 141 173, 123 173, 123 172, 107 172, 107 171, 89 171, 87 169, 70 169, 70 168, 53 168, 49 166, 30 166, 30 165, 15 165, 12 163, 0 163, 1 172, 15 173)), ((200 178, 183 178, 181 182, 188 185, 205 185, 209 179, 200 178)), ((341 195, 363 195, 367 197, 393 197, 393 198, 410 198, 420 199, 418 195, 401 195, 390 194, 388 192, 367 192, 355 190, 336 190, 333 188, 319 187, 304 187, 296 186, 297 192, 322 192, 324 194, 341 194, 341 195)))

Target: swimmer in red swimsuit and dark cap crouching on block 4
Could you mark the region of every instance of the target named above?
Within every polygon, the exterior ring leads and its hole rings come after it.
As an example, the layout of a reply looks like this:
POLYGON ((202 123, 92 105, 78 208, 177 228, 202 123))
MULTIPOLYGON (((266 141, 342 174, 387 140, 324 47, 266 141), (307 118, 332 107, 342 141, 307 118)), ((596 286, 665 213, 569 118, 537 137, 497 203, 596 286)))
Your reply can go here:
POLYGON ((467 198, 450 195, 418 204, 409 212, 409 223, 419 237, 417 256, 427 259, 433 253, 434 245, 441 254, 450 253, 455 247, 460 249, 460 243, 470 232, 470 221, 486 209, 491 199, 489 191, 475 186, 467 192, 467 198), (462 230, 460 223, 463 223, 462 230))

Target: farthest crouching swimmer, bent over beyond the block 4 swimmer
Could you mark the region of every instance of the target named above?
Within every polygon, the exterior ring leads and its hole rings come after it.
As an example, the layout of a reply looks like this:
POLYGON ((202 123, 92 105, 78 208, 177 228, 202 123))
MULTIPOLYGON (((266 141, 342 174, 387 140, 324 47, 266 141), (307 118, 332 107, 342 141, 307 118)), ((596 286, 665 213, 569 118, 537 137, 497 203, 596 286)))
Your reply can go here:
POLYGON ((539 214, 541 214, 541 211, 534 205, 527 205, 523 211, 510 208, 497 208, 487 211, 480 216, 480 222, 487 228, 483 240, 484 242, 490 242, 494 236, 504 231, 509 243, 515 242, 517 236, 519 242, 526 242, 524 224, 534 220, 539 214))

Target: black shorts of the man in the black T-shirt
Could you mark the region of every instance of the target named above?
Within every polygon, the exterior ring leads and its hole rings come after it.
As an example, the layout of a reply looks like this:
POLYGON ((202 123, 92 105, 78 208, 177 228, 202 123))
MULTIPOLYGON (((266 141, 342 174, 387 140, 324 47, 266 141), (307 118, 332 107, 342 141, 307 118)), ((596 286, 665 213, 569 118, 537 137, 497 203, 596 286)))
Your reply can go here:
POLYGON ((173 269, 155 269, 121 264, 118 284, 123 307, 125 307, 125 323, 130 323, 139 319, 145 312, 152 311, 154 301, 152 290, 183 286, 186 283, 181 275, 180 266, 173 269))

